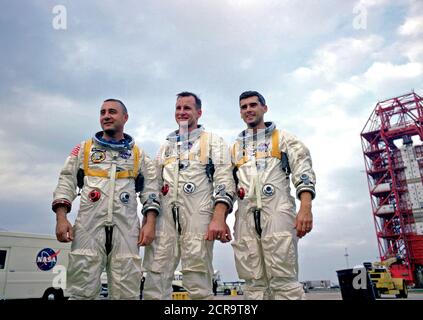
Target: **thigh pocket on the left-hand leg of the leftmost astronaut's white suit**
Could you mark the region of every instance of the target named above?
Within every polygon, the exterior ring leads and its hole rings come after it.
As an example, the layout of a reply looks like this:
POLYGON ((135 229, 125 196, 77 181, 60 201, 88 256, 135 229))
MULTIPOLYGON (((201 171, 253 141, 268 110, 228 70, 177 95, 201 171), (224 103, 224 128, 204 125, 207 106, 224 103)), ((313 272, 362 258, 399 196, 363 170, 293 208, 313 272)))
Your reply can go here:
POLYGON ((91 250, 69 253, 68 285, 72 295, 95 298, 100 292, 100 275, 103 270, 101 256, 91 250))

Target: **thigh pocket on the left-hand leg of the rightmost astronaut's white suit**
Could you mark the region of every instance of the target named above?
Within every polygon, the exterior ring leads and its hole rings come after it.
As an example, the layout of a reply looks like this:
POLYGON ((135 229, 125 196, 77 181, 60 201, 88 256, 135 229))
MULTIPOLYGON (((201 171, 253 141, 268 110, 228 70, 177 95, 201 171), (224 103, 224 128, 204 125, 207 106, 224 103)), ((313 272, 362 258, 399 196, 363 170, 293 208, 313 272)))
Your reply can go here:
POLYGON ((263 276, 263 262, 257 239, 242 238, 232 242, 235 266, 238 276, 244 280, 260 279, 263 276))

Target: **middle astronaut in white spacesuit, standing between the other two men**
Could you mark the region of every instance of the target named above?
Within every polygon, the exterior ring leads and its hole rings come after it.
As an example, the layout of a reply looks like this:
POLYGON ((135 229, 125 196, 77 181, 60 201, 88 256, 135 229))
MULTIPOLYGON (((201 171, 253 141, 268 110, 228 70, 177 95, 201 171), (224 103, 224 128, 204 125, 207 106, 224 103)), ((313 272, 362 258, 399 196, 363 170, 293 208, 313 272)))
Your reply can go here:
POLYGON ((171 299, 180 261, 190 299, 211 299, 213 240, 232 239, 225 220, 235 194, 230 152, 223 139, 198 125, 201 114, 201 100, 195 94, 178 94, 179 130, 167 137, 156 159, 162 214, 156 238, 145 248, 147 300, 171 299))

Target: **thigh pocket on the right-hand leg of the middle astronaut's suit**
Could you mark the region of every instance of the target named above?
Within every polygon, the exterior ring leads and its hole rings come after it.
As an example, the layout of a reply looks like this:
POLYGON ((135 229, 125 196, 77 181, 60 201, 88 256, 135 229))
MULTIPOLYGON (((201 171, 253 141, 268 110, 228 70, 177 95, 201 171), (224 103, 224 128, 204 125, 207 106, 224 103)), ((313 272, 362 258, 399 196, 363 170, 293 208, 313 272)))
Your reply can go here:
POLYGON ((208 272, 206 241, 202 235, 185 234, 181 239, 181 263, 183 271, 208 272))

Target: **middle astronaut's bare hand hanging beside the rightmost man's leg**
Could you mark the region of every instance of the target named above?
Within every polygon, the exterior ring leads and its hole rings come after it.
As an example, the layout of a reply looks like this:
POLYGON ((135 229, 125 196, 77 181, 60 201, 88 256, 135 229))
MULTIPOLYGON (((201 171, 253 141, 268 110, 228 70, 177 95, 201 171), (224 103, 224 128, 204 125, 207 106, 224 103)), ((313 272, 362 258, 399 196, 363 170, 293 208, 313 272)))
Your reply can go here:
POLYGON ((231 230, 226 223, 226 211, 228 206, 224 203, 217 203, 214 208, 212 221, 209 223, 205 240, 220 240, 225 243, 232 240, 231 230))

